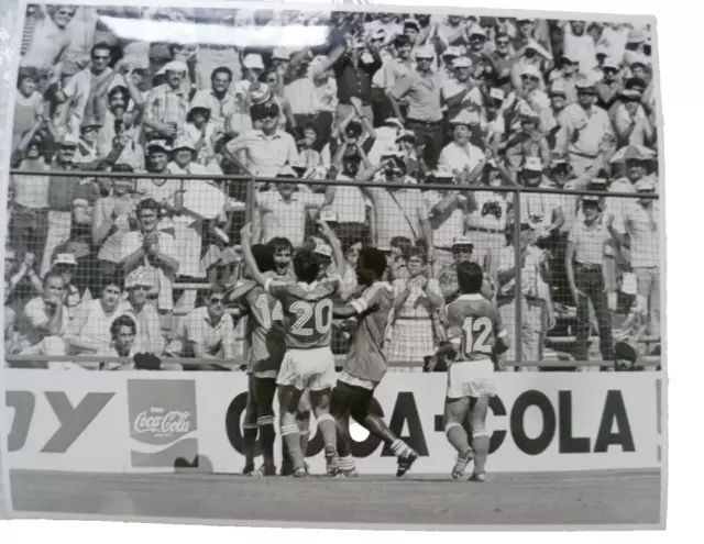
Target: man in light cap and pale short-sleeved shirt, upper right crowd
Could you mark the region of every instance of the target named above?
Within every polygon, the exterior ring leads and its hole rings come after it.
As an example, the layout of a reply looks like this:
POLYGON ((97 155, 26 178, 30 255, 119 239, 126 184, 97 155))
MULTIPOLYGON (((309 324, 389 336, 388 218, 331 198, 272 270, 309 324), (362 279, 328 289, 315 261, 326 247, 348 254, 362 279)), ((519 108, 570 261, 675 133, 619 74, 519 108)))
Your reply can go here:
POLYGON ((594 81, 581 78, 576 89, 578 102, 564 109, 556 151, 568 155, 574 173, 581 176, 608 160, 614 153, 615 135, 608 113, 596 106, 594 81))

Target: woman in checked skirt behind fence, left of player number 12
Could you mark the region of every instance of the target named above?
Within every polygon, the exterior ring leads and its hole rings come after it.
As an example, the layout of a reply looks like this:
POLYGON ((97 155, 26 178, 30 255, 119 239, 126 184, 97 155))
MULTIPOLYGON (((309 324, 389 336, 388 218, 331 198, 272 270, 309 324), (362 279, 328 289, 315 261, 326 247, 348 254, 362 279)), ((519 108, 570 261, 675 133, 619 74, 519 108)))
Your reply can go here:
POLYGON ((394 320, 387 357, 395 363, 421 365, 436 351, 432 319, 443 301, 438 280, 428 277, 427 265, 425 251, 413 248, 408 277, 393 282, 394 320))

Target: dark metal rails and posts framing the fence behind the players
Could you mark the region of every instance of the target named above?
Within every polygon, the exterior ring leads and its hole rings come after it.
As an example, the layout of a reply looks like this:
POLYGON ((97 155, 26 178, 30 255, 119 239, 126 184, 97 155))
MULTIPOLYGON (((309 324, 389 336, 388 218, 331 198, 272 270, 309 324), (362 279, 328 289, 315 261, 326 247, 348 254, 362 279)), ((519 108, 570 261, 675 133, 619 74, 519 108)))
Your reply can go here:
MULTIPOLYGON (((154 179, 154 180, 173 180, 173 181, 211 181, 211 182, 220 182, 222 184, 222 189, 227 193, 232 184, 237 184, 242 186, 246 184, 244 188, 245 195, 245 209, 244 209, 244 221, 251 222, 254 217, 254 207, 255 207, 255 193, 256 185, 277 185, 284 182, 293 182, 295 181, 297 185, 307 185, 307 186, 319 186, 319 187, 328 187, 328 186, 353 186, 353 187, 370 187, 370 188, 396 188, 396 189, 419 189, 419 190, 438 190, 438 191, 451 191, 451 190, 462 190, 462 191, 492 191, 492 192, 503 192, 503 193, 512 193, 513 195, 513 207, 514 207, 514 240, 519 240, 520 237, 520 225, 522 219, 522 207, 521 207, 521 195, 525 193, 543 193, 543 195, 570 195, 573 197, 584 197, 584 196, 594 196, 600 198, 623 198, 623 199, 659 199, 658 195, 654 193, 630 193, 630 192, 608 192, 608 191, 590 191, 590 190, 570 190, 564 191, 558 188, 542 188, 542 187, 521 187, 521 186, 499 186, 499 187, 487 187, 483 185, 458 185, 458 184, 419 184, 419 185, 409 185, 405 182, 385 182, 385 181, 355 181, 355 180, 328 180, 328 179, 298 179, 298 178, 272 178, 272 177, 252 177, 248 175, 218 175, 218 174, 204 174, 204 175, 177 175, 177 174, 154 174, 154 173, 111 173, 111 171, 85 171, 85 170, 21 170, 21 169, 11 169, 11 175, 23 176, 24 178, 36 176, 41 178, 46 177, 88 177, 88 178, 100 178, 100 179, 154 179)), ((51 181, 50 181, 51 182, 51 181)), ((519 288, 521 285, 521 266, 520 266, 520 252, 515 253, 515 269, 516 269, 516 279, 515 279, 515 311, 516 311, 516 323, 515 323, 515 344, 516 346, 521 345, 521 323, 522 323, 522 290, 519 288)), ((206 289, 209 285, 206 282, 179 282, 176 281, 174 284, 175 289, 183 290, 201 290, 206 289)), ((563 335, 563 336, 550 336, 550 340, 557 343, 570 343, 574 342, 573 335, 563 335)), ((593 342, 597 337, 590 336, 588 342, 593 342)), ((642 343, 658 343, 660 338, 654 336, 642 336, 640 338, 642 343)), ((10 362, 28 362, 28 360, 63 360, 63 357, 38 357, 38 356, 18 356, 18 355, 8 355, 6 356, 7 360, 10 362), (28 358, 29 357, 29 358, 28 358)), ((73 362, 95 362, 96 358, 92 357, 70 357, 73 362)), ((101 358, 100 360, 107 360, 101 358)), ((177 359, 169 357, 169 362, 176 362, 177 359)), ((659 364, 659 357, 645 357, 642 358, 644 364, 659 364)), ((188 359, 188 364, 194 364, 194 359, 188 359)), ((218 363, 221 365, 237 365, 237 363, 227 362, 227 360, 212 360, 208 359, 205 363, 218 363)), ((572 362, 572 360, 522 360, 521 349, 516 349, 516 359, 515 362, 509 362, 510 364, 516 364, 519 366, 540 366, 540 367, 570 367, 570 366, 598 366, 601 363, 598 362, 572 362)))

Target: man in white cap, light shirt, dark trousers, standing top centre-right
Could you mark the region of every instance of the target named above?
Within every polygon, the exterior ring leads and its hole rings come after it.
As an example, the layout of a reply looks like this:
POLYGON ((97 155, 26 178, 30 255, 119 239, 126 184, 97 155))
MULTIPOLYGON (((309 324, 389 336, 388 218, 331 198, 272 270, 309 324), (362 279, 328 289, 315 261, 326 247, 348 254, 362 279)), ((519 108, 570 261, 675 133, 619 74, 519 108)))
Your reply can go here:
POLYGON ((438 164, 440 145, 442 144, 442 102, 440 76, 433 71, 435 52, 430 47, 416 51, 416 71, 409 73, 396 81, 389 91, 392 107, 398 119, 404 119, 397 100, 408 101, 406 127, 416 136, 428 136, 426 163, 430 168, 438 164))

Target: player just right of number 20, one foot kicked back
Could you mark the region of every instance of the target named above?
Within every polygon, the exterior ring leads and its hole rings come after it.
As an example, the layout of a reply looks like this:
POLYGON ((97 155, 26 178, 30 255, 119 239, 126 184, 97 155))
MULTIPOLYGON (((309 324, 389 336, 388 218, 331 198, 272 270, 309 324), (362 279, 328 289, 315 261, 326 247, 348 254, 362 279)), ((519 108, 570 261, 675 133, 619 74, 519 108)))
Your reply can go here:
POLYGON ((398 438, 384 420, 370 413, 374 390, 386 374, 384 338, 391 323, 394 293, 382 278, 386 271, 386 256, 375 247, 364 247, 356 263, 358 284, 362 292, 358 299, 336 308, 339 319, 356 318, 351 331, 350 351, 338 384, 332 392, 331 410, 338 428, 338 475, 358 476, 350 448, 350 415, 360 425, 384 441, 398 458, 396 476, 406 474, 418 459, 418 453, 398 438))

